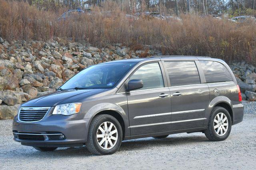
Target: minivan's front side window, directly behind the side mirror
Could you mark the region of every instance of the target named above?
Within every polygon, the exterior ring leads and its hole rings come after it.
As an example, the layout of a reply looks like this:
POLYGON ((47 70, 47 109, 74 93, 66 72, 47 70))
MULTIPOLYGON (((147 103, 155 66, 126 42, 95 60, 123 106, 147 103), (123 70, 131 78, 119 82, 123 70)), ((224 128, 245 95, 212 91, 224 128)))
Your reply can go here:
POLYGON ((132 79, 143 81, 143 87, 140 90, 164 87, 162 72, 158 63, 143 65, 130 77, 130 80, 132 79))

